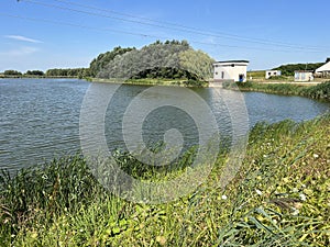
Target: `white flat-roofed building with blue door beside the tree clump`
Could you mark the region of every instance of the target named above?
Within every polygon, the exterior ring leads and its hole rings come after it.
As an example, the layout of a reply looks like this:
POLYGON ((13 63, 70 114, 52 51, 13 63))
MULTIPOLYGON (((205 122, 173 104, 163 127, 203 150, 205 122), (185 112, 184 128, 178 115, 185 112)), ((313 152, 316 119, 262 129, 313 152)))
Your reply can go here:
POLYGON ((213 64, 215 81, 246 81, 246 68, 249 60, 224 60, 213 64))

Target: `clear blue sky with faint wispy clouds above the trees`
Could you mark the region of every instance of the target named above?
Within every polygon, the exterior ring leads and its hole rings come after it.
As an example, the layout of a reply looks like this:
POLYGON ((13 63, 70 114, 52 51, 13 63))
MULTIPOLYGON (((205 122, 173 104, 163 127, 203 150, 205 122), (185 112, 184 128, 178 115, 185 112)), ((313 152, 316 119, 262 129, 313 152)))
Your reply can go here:
POLYGON ((330 57, 329 0, 1 0, 0 71, 88 67, 116 46, 187 40, 249 70, 330 57))

